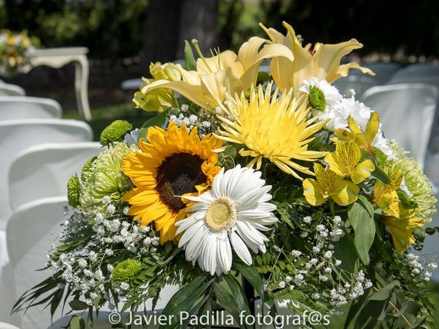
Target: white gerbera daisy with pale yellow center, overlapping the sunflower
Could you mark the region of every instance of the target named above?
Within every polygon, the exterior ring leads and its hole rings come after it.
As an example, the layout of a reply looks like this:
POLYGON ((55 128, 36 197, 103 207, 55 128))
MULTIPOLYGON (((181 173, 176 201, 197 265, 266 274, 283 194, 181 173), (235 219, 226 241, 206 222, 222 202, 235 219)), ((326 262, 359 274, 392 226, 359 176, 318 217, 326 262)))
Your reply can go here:
POLYGON ((183 233, 178 247, 184 247, 186 259, 211 275, 228 273, 232 267, 232 247, 244 263, 251 265, 253 252, 265 252, 267 237, 259 231, 275 223, 274 204, 268 201, 272 186, 261 180, 261 172, 237 166, 215 176, 212 189, 198 197, 188 208, 193 214, 176 223, 176 234, 183 233))

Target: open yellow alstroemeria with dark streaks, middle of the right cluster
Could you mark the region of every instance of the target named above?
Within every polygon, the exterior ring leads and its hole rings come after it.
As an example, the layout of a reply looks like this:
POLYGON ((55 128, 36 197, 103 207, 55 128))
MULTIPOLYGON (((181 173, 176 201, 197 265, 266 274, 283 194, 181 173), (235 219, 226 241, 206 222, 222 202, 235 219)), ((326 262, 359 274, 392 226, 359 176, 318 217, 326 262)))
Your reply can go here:
POLYGON ((372 160, 367 159, 358 163, 361 159, 361 149, 355 142, 335 142, 335 152, 325 156, 324 160, 329 164, 329 169, 342 177, 351 177, 354 184, 363 182, 375 170, 372 160))

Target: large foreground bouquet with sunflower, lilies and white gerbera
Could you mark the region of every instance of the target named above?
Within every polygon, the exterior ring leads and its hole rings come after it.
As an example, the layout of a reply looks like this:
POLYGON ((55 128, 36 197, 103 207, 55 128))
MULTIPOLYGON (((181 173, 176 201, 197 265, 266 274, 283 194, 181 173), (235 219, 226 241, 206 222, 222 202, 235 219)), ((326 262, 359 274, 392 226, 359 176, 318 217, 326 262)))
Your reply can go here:
POLYGON ((133 101, 154 117, 102 132, 106 149, 69 180, 52 274, 14 310, 55 310, 67 294, 93 322, 103 307, 155 307, 166 284, 179 284, 162 328, 195 327, 182 312, 221 310, 250 328, 241 315, 257 301, 274 318, 285 302, 300 318, 343 319, 334 328, 433 328, 436 263, 410 252, 436 232, 425 228, 431 184, 385 138, 377 112, 331 85, 350 69, 374 74, 340 64, 362 45, 304 46, 284 26, 285 36, 261 25, 268 38, 238 53, 205 57, 193 40, 198 60, 186 41, 183 66, 151 64, 133 101))

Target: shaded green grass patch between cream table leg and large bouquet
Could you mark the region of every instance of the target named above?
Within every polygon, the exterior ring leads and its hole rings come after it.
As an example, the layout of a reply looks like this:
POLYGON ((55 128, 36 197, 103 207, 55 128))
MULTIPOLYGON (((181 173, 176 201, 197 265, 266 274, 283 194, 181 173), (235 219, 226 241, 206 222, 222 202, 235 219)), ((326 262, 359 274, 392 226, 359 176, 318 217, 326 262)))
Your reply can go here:
MULTIPOLYGON (((91 115, 93 119, 88 122, 93 130, 94 141, 99 141, 99 136, 106 126, 112 121, 123 119, 132 123, 133 127, 141 127, 143 123, 151 117, 151 114, 139 108, 135 108, 134 104, 121 103, 112 106, 104 106, 102 108, 92 108, 91 115)), ((65 112, 63 119, 77 119, 84 121, 84 118, 78 112, 65 112)))

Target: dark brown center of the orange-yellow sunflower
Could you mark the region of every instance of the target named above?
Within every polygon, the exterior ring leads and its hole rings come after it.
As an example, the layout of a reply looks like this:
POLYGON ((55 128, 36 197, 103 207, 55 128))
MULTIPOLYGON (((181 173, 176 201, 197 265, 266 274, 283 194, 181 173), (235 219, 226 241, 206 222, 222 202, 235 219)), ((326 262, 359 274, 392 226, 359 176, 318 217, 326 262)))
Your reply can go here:
POLYGON ((206 182, 206 175, 201 169, 203 162, 199 156, 180 153, 168 156, 158 167, 156 191, 161 202, 173 212, 185 208, 176 195, 195 192, 196 185, 206 182))

